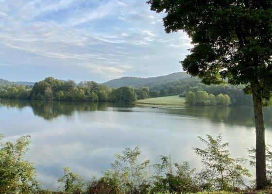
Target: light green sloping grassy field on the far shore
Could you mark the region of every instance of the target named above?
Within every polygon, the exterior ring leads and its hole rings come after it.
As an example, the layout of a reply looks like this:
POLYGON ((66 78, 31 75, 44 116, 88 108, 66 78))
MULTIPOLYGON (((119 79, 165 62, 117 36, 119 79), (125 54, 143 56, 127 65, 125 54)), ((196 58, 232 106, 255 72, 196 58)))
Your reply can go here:
POLYGON ((137 100, 135 103, 142 106, 184 107, 185 99, 178 96, 153 97, 137 100))

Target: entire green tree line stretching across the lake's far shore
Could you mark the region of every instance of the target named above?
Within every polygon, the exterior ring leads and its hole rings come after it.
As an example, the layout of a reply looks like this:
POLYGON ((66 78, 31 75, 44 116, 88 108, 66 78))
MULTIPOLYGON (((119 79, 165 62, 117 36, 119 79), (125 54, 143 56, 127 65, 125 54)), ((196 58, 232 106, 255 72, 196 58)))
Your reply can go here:
POLYGON ((0 98, 133 102, 148 97, 173 95, 186 97, 187 95, 188 105, 252 105, 252 97, 245 95, 243 88, 244 85, 232 86, 229 84, 207 86, 199 79, 185 78, 136 88, 123 86, 112 89, 95 81, 81 81, 76 84, 72 80, 60 81, 48 77, 43 81, 35 82, 34 86, 0 83, 0 98), (200 93, 198 91, 206 92, 209 95, 205 98, 207 95, 203 94, 204 98, 198 99, 200 93), (195 100, 193 100, 194 96, 196 96, 195 100))

